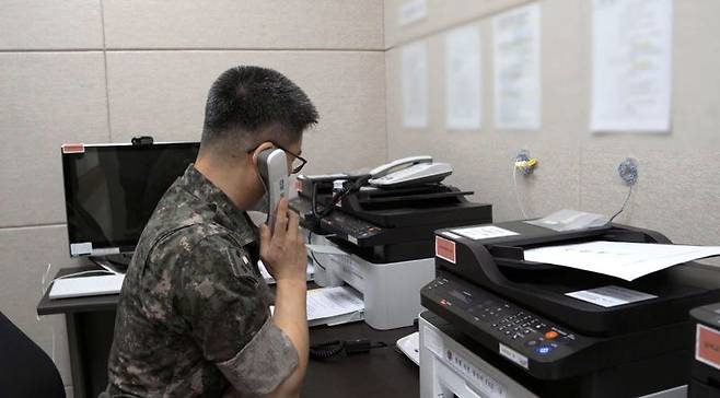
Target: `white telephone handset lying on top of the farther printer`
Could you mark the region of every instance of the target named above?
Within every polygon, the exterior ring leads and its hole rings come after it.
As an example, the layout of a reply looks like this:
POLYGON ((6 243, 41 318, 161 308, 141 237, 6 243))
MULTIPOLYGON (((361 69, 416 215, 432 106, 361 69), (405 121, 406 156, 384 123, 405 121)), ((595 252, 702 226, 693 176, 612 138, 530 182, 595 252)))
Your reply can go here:
POLYGON ((370 171, 370 185, 378 188, 399 188, 440 183, 453 173, 448 163, 433 163, 432 156, 411 156, 378 166, 370 171))

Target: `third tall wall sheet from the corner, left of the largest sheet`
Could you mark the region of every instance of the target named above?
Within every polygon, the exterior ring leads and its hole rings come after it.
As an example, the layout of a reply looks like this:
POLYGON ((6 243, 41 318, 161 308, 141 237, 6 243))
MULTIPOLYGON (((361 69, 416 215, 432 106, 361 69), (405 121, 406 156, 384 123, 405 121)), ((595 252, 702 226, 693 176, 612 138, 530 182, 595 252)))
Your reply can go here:
POLYGON ((492 20, 495 47, 495 124, 499 129, 539 129, 538 3, 492 20))

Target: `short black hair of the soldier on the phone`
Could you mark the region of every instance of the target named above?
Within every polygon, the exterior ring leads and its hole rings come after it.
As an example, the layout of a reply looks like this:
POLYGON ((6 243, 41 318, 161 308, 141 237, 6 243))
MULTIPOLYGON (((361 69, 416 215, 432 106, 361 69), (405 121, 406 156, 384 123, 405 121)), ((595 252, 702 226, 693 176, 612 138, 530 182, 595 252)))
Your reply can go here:
POLYGON ((289 144, 317 118, 307 95, 282 73, 239 66, 224 71, 210 87, 200 151, 248 151, 247 145, 258 140, 289 144), (262 137, 268 130, 270 137, 262 137))

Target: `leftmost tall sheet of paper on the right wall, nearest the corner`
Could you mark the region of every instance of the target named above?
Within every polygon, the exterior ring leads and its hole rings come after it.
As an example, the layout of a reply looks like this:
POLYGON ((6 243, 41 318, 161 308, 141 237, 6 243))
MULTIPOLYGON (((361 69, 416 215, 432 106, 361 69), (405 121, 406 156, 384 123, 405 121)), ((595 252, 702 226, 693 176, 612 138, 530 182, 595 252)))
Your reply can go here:
POLYGON ((403 126, 428 127, 428 45, 425 42, 403 47, 403 126))

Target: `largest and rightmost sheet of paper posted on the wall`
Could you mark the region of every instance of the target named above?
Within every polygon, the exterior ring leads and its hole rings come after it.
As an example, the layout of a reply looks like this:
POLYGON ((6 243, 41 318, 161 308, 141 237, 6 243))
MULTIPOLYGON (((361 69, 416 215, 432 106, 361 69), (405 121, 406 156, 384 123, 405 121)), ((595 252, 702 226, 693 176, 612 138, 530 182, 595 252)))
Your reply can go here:
POLYGON ((592 131, 670 131, 672 0, 594 0, 592 131))

